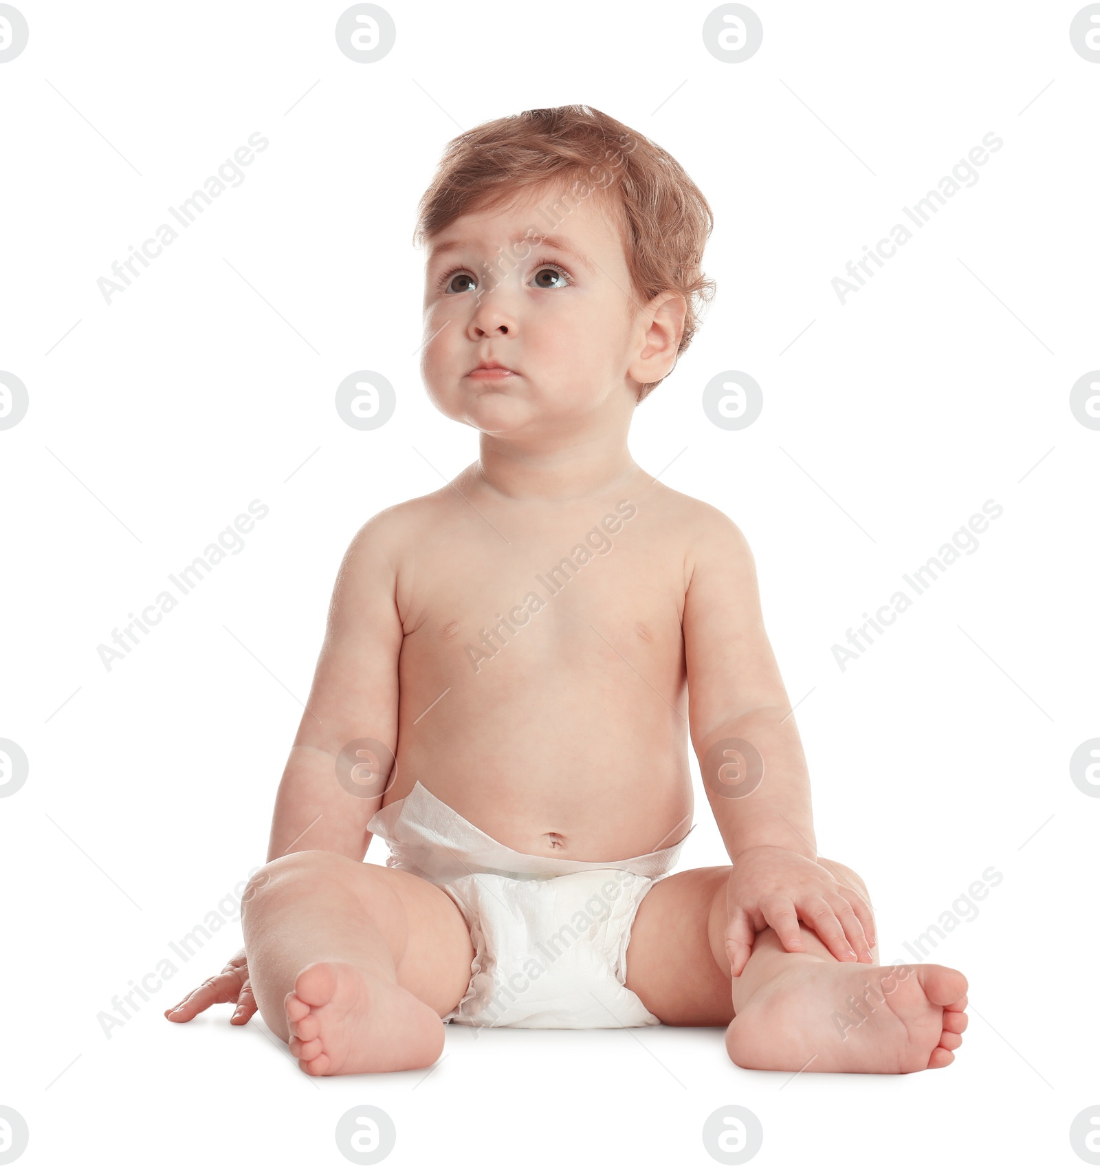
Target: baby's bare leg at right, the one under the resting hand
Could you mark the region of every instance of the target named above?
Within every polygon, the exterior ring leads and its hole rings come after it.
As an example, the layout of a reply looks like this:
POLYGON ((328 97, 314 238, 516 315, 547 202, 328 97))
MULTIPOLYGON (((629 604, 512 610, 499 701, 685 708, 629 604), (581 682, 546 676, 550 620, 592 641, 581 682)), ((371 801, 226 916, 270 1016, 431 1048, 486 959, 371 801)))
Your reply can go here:
MULTIPOLYGON (((818 862, 871 904, 857 874, 818 862)), ((726 1051, 745 1068, 906 1073, 950 1064, 967 1026, 967 980, 952 968, 878 966, 877 947, 870 964, 842 963, 800 923, 802 951, 762 930, 733 979, 725 954, 731 872, 672 874, 638 907, 627 986, 662 1023, 728 1024, 726 1051)))

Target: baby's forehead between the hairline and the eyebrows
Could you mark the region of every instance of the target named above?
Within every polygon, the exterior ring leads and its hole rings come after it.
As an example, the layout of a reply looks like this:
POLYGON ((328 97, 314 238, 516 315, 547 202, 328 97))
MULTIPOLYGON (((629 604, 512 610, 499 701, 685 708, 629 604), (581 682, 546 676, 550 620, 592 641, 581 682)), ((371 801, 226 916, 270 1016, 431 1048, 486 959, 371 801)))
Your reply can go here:
POLYGON ((428 262, 476 248, 496 252, 526 240, 572 253, 595 268, 589 257, 606 263, 616 252, 622 253, 618 226, 608 202, 602 192, 581 198, 561 185, 525 190, 504 206, 475 207, 452 220, 429 240, 428 262))

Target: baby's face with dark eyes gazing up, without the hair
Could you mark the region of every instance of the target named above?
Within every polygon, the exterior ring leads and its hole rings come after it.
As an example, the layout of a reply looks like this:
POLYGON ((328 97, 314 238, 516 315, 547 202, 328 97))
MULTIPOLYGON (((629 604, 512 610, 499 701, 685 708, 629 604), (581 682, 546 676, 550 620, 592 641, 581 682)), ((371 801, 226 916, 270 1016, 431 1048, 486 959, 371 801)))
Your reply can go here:
POLYGON ((599 195, 566 197, 552 227, 538 209, 555 190, 462 215, 428 246, 424 385, 449 418, 501 438, 575 433, 637 399, 644 326, 618 233, 599 195), (512 372, 471 376, 483 362, 512 372))

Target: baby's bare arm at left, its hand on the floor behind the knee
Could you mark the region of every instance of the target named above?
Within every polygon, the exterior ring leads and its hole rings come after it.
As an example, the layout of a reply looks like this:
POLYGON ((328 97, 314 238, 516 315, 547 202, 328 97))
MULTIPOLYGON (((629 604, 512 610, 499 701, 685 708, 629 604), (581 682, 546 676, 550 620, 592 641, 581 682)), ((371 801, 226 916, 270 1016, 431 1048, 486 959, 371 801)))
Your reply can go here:
MULTIPOLYGON (((382 512, 357 532, 340 565, 313 689, 275 801, 268 861, 302 849, 326 849, 354 861, 366 854, 367 824, 393 780, 387 765, 393 764, 397 743, 397 659, 403 634, 394 599, 396 538, 392 514, 382 512), (357 783, 350 792, 337 779, 337 757, 353 739, 362 738, 378 741, 386 751, 373 777, 365 775, 362 757, 354 762, 357 783)), ((262 869, 242 902, 265 880, 262 869)), ((236 1003, 233 1024, 247 1024, 256 1012, 243 948, 220 975, 165 1016, 184 1024, 213 1004, 224 1003, 236 1003)))

